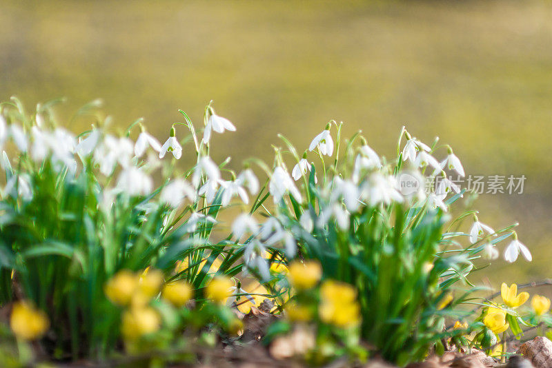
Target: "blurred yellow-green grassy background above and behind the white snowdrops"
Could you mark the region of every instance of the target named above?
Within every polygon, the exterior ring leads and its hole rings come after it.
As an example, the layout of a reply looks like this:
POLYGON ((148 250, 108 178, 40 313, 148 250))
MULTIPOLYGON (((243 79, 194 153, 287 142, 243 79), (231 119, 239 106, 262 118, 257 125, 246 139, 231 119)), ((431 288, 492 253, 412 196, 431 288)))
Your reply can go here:
POLYGON ((550 2, 1 0, 0 99, 12 95, 29 110, 68 97, 63 121, 101 97, 117 127, 144 116, 159 140, 177 109, 201 124, 213 99, 237 126, 213 156, 235 167, 270 160, 278 132, 302 150, 330 119, 387 156, 402 125, 438 135, 469 174, 527 178, 475 208, 495 228, 519 221, 535 260, 498 260, 480 282, 552 276, 550 2))

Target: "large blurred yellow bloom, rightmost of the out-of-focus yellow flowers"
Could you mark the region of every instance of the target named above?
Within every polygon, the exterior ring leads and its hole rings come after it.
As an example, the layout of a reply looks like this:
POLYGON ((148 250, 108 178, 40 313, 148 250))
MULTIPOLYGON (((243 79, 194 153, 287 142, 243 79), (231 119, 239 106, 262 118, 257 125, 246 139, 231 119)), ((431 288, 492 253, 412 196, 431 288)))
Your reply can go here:
POLYGON ((360 306, 357 292, 352 285, 326 280, 320 287, 322 304, 319 306, 320 318, 338 327, 351 327, 360 322, 360 306))

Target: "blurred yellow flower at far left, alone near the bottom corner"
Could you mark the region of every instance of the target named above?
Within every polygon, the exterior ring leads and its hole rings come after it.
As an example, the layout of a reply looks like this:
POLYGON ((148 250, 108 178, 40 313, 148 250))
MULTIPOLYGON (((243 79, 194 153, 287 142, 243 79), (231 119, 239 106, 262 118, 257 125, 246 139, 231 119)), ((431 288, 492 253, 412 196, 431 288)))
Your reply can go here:
POLYGON ((50 321, 48 321, 46 313, 35 309, 30 303, 22 301, 13 305, 10 327, 18 338, 35 340, 50 327, 50 321))

